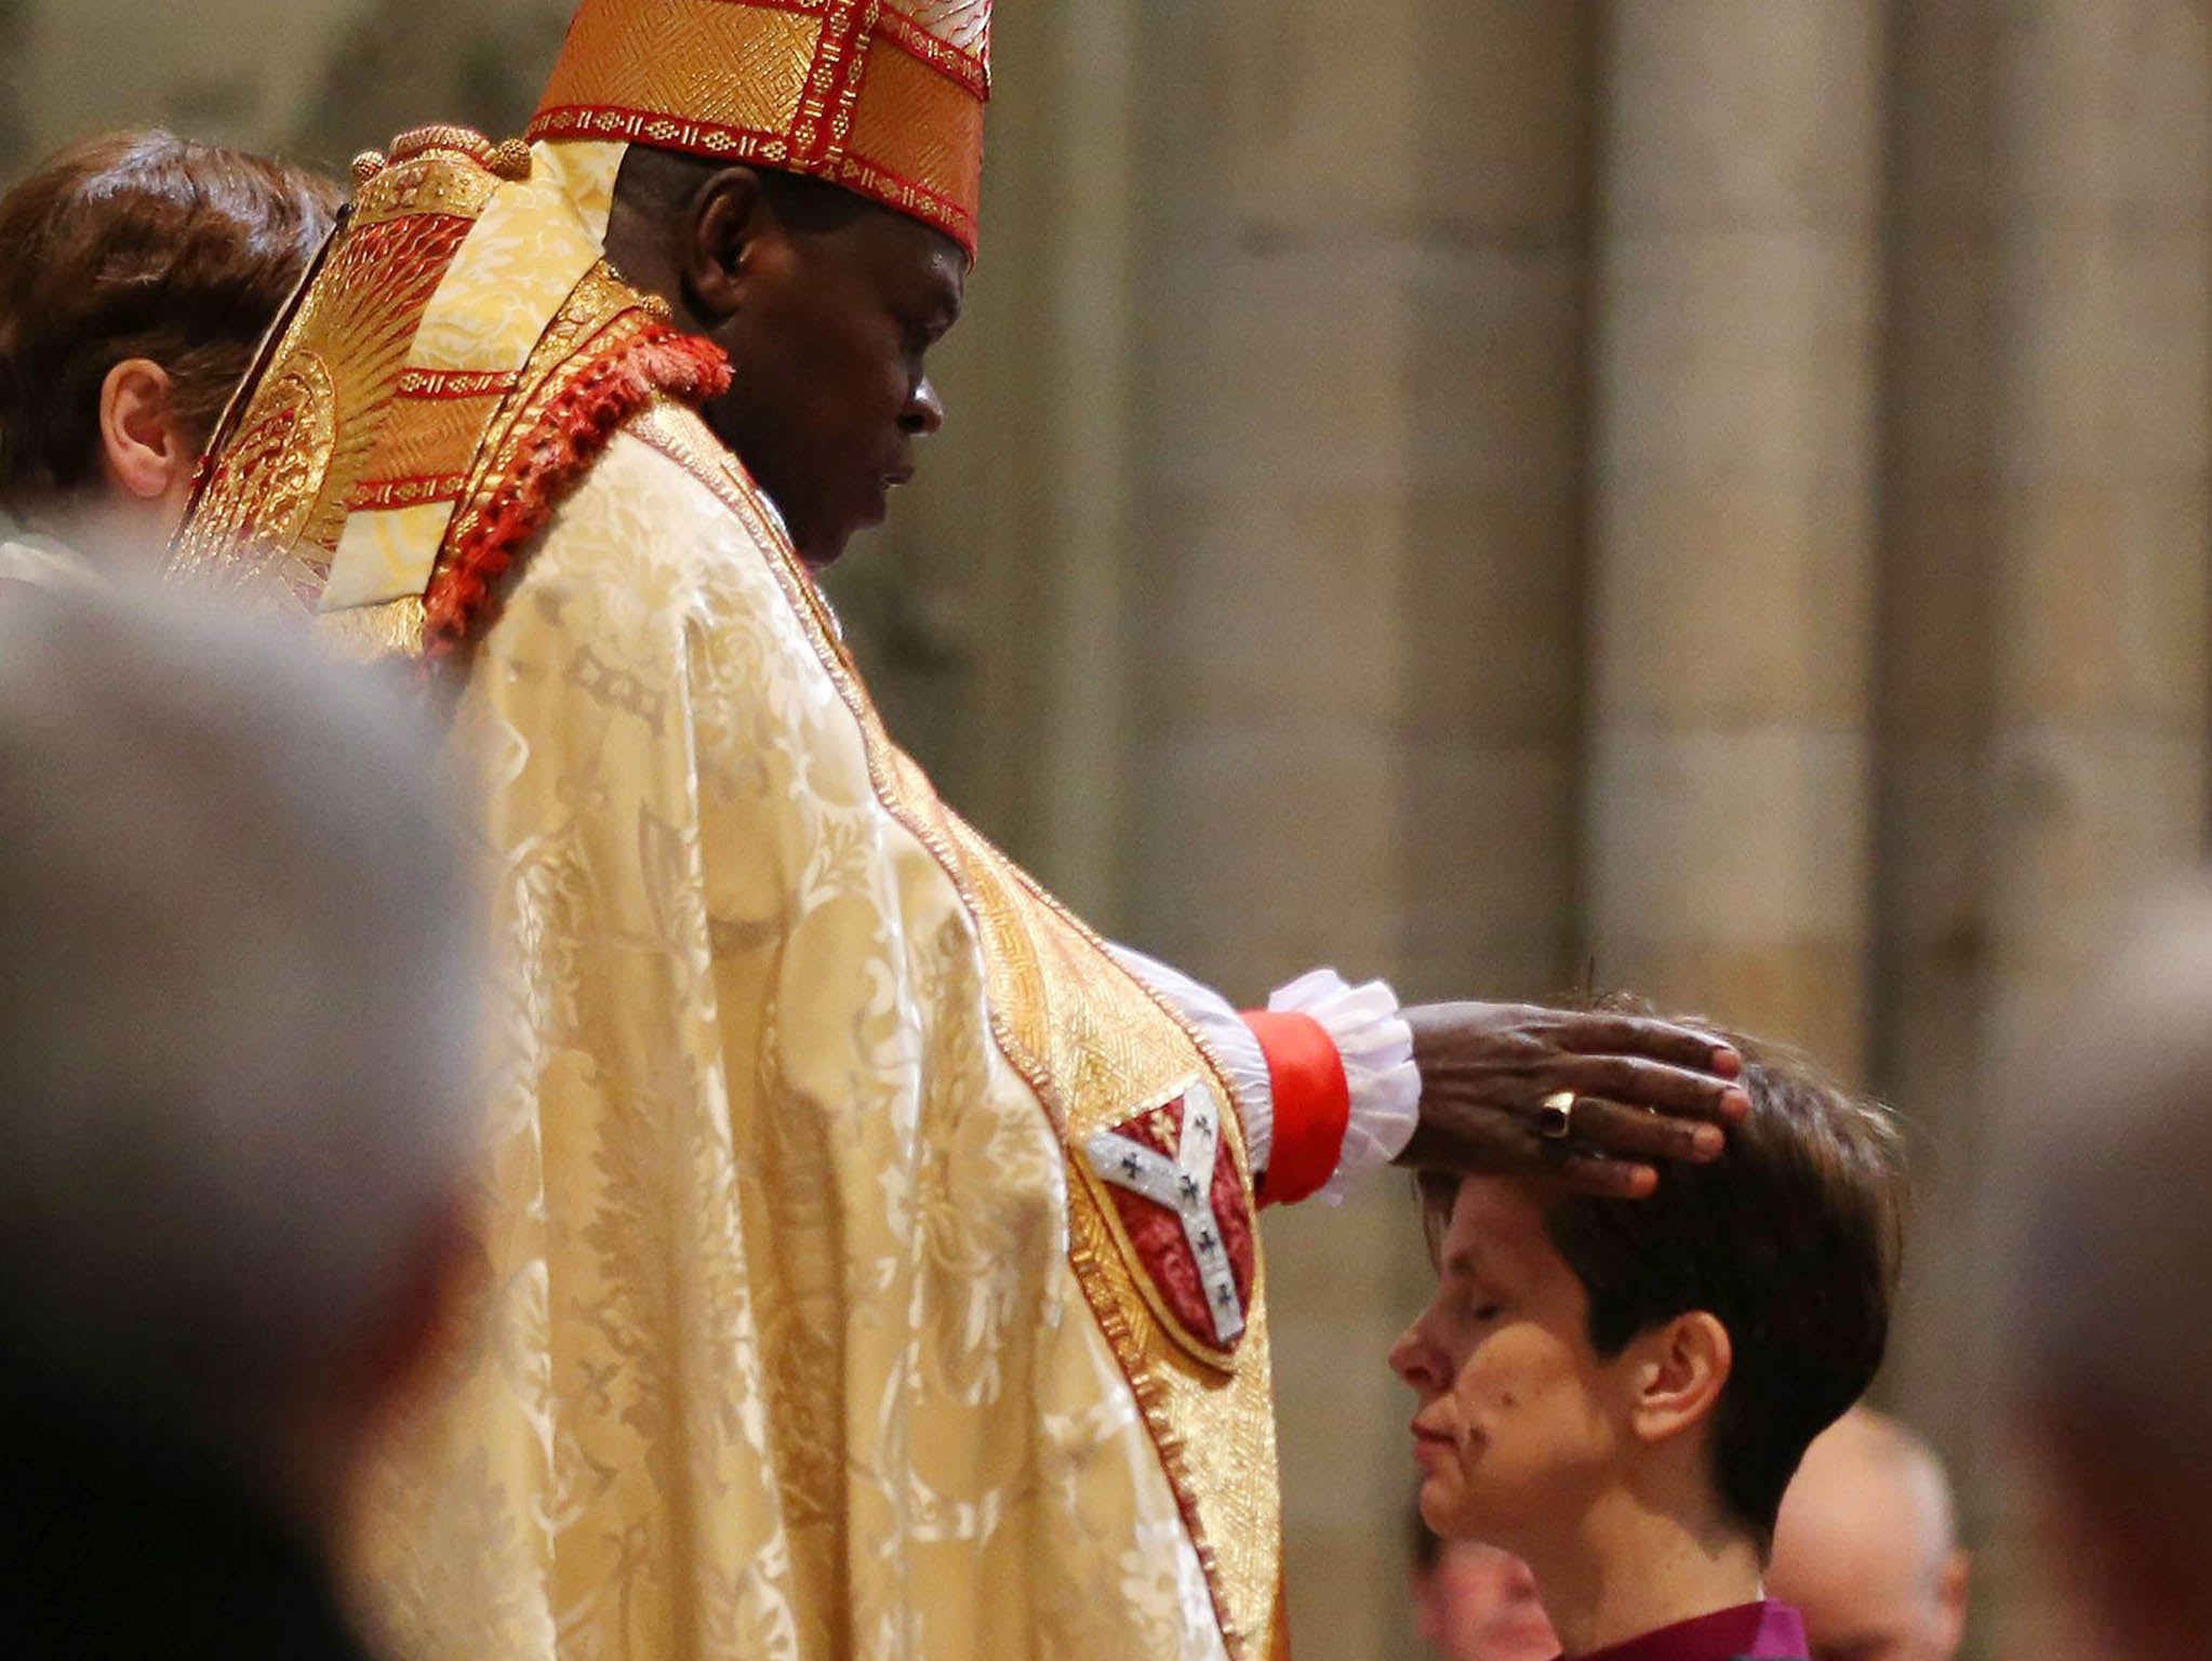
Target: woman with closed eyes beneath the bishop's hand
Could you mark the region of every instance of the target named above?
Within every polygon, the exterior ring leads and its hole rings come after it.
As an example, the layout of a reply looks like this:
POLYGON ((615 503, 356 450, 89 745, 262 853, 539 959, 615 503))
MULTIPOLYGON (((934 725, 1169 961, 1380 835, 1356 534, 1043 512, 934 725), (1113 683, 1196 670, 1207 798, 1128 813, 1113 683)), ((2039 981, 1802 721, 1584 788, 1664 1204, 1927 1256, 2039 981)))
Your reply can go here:
POLYGON ((1783 1488, 1882 1360, 1896 1124, 1730 1040, 1752 1115, 1646 1201, 1420 1177, 1436 1298, 1391 1367, 1420 1511, 1522 1557, 1571 1657, 1803 1661, 1763 1570, 1783 1488))

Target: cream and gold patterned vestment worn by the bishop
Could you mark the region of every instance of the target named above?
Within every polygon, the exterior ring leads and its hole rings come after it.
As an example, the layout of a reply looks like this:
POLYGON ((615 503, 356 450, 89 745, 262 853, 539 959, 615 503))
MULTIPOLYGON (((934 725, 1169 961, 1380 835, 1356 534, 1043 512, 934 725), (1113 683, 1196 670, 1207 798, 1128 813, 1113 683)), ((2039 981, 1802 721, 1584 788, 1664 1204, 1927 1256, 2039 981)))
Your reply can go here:
MULTIPOLYGON (((916 40, 980 51, 973 4, 626 9, 677 66, 684 18, 763 75, 748 18, 843 42, 847 135, 916 40)), ((358 164, 173 560, 414 664, 482 805, 482 1336, 372 1484, 363 1595, 414 1661, 1283 1657, 1221 1068, 885 737, 697 414, 728 367, 606 265, 619 161, 358 164)))

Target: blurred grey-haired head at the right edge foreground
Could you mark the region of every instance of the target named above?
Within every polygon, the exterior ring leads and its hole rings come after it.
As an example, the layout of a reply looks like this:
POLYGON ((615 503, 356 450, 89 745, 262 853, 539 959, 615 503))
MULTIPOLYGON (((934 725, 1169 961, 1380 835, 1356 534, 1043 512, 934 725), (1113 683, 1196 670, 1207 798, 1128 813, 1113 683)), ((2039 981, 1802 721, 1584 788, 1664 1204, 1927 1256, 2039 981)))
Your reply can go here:
POLYGON ((2168 896, 2024 1057, 1993 1185, 2000 1334, 2090 1626, 2139 1661, 2212 1626, 2212 891, 2168 896))

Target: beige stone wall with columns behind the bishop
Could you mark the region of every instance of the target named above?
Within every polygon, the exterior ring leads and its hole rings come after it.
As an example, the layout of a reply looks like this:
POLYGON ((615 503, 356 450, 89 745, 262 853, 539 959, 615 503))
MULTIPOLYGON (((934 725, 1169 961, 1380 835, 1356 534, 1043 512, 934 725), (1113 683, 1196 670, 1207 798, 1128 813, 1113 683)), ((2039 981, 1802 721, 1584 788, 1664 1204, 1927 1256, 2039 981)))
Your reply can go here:
MULTIPOLYGON (((0 0, 0 170, 511 130, 564 11, 0 0)), ((1989 1057, 2205 843, 2208 62, 2192 0, 1015 0, 951 425, 838 577, 947 794, 1237 995, 1595 975, 1889 1093, 1882 1393, 1982 1544, 1989 1057)), ((1336 1661, 1413 1654, 1413 1234, 1267 1230, 1336 1661)))

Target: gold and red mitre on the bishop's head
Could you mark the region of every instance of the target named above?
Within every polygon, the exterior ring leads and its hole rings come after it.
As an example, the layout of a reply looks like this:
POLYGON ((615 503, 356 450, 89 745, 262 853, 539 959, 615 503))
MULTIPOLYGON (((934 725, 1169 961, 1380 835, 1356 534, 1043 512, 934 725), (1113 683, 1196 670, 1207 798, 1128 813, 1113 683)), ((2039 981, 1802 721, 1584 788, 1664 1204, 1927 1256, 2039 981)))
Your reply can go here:
POLYGON ((975 252, 991 0, 584 0, 533 139, 827 179, 975 252))

